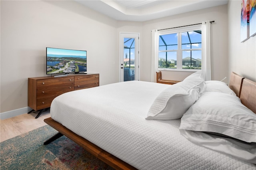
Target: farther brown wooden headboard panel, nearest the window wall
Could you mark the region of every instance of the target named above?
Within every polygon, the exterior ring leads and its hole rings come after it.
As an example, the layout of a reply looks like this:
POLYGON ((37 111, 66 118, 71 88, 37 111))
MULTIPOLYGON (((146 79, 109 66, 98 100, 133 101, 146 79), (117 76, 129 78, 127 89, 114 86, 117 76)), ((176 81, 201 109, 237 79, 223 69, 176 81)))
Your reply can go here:
POLYGON ((236 96, 238 96, 238 97, 240 97, 243 79, 244 79, 244 77, 242 77, 234 72, 231 72, 229 88, 231 90, 233 90, 236 93, 236 96))

